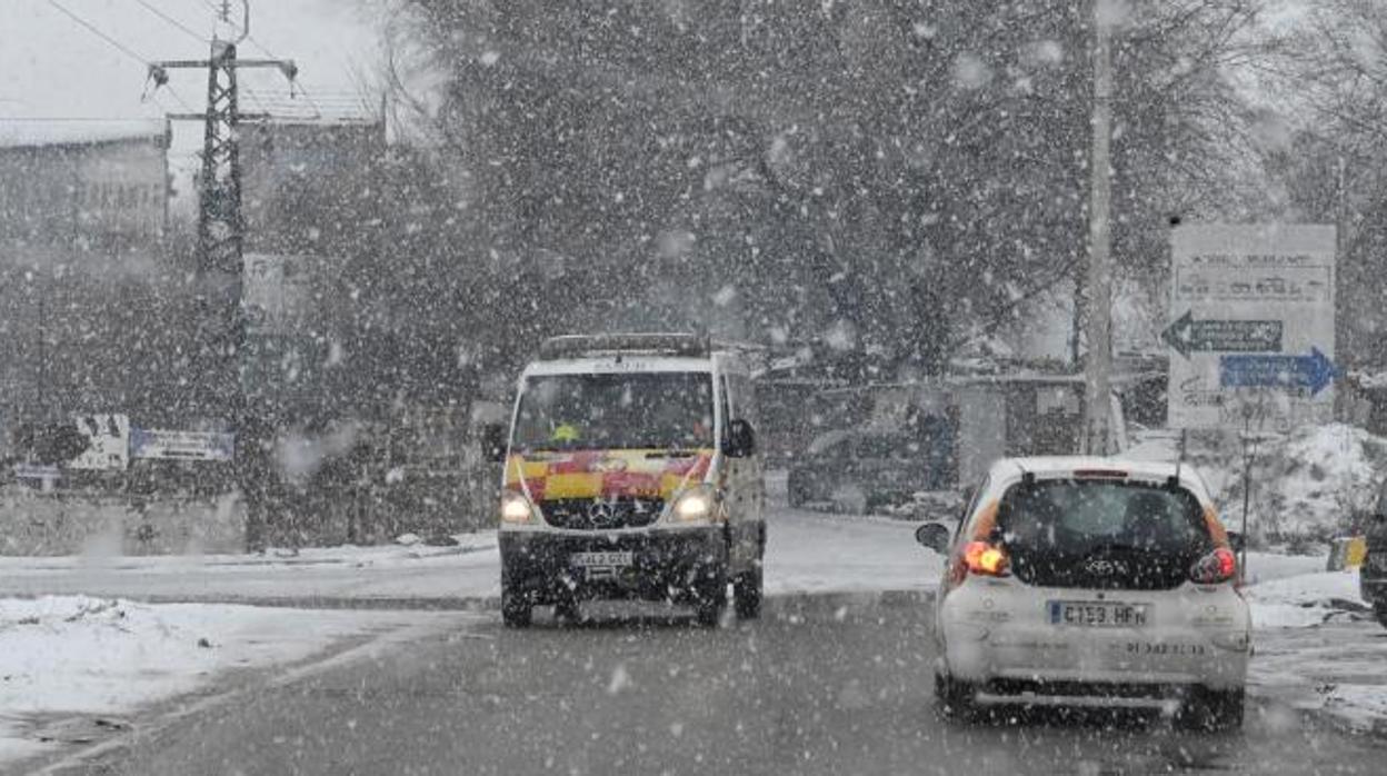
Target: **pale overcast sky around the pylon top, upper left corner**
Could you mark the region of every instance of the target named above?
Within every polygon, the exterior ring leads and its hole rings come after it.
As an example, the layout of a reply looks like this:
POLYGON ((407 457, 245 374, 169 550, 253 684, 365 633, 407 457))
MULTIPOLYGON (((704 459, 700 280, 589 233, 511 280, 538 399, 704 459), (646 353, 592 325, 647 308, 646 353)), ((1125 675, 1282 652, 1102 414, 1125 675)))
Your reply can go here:
MULTIPOLYGON (((0 121, 201 111, 205 71, 171 72, 172 90, 161 89, 155 99, 141 101, 147 68, 140 60, 207 58, 208 43, 198 37, 211 36, 218 6, 221 0, 0 0, 0 121), (54 3, 130 53, 103 40, 54 3)), ((233 7, 239 19, 240 0, 233 0, 233 7)), ((254 40, 241 44, 240 56, 269 58, 268 50, 295 60, 309 97, 323 112, 341 114, 347 100, 361 94, 361 76, 374 75, 380 60, 374 22, 386 7, 387 0, 252 0, 254 40)), ((312 115, 308 100, 288 101, 288 86, 277 72, 247 71, 243 78, 254 92, 243 96, 243 110, 312 115)), ((200 137, 200 126, 175 125, 175 153, 196 149, 200 137)))

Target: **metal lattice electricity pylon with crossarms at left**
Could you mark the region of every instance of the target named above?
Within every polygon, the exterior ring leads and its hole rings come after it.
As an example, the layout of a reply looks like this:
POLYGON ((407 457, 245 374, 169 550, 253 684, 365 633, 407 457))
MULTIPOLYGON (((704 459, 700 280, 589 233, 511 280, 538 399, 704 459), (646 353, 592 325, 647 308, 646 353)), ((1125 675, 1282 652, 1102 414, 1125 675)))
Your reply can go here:
MULTIPOLYGON (((203 114, 171 114, 175 121, 201 121, 203 168, 198 180, 197 214, 197 343, 194 369, 201 396, 201 412, 223 415, 237 435, 237 482, 247 501, 247 544, 258 548, 265 528, 266 423, 245 401, 240 366, 245 350, 243 269, 245 218, 241 212, 240 124, 266 119, 269 114, 240 111, 237 72, 244 68, 275 68, 288 79, 298 75, 293 60, 243 60, 237 44, 250 36, 250 0, 241 0, 243 18, 234 40, 212 37, 207 60, 153 62, 150 76, 168 82, 171 69, 207 69, 207 110, 203 114)), ((221 21, 230 25, 230 0, 222 0, 221 21)))

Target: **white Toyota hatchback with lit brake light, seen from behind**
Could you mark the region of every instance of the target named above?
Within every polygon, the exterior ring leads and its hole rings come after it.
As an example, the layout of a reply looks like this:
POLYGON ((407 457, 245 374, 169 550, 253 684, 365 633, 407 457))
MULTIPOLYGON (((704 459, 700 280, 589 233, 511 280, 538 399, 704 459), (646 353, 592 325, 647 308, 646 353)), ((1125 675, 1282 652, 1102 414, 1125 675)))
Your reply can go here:
POLYGON ((1189 466, 1006 458, 950 532, 935 612, 946 716, 993 704, 1161 708, 1243 722, 1251 619, 1234 544, 1189 466))

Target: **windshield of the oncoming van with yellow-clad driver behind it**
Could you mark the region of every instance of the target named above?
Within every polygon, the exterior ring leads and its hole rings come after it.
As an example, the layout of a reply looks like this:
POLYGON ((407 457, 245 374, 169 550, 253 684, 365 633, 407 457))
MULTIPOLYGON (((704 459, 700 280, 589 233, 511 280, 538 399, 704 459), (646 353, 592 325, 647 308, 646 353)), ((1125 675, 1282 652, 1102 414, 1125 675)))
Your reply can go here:
POLYGON ((512 441, 519 453, 712 446, 713 378, 709 372, 527 378, 512 441))

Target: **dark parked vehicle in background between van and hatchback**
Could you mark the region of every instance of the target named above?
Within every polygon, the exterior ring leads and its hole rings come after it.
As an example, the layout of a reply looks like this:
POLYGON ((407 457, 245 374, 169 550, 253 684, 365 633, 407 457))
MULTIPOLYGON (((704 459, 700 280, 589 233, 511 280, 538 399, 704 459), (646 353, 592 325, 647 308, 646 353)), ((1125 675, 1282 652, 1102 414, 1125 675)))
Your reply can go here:
POLYGON ((789 469, 791 507, 831 503, 839 509, 897 505, 953 483, 953 437, 943 421, 920 430, 832 430, 820 435, 789 469))

